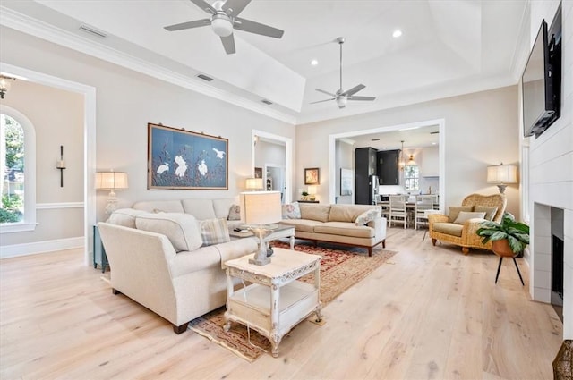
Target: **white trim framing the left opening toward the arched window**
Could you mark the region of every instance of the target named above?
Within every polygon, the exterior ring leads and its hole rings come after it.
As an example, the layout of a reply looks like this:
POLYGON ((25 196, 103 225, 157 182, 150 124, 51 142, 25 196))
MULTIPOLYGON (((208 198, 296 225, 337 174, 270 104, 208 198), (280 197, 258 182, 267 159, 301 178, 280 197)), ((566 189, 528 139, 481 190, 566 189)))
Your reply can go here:
POLYGON ((84 125, 83 125, 83 146, 84 156, 83 165, 83 203, 84 203, 84 254, 85 264, 90 264, 90 239, 93 239, 92 226, 96 224, 96 190, 94 189, 94 173, 96 173, 96 89, 94 87, 64 80, 43 72, 34 72, 32 70, 14 66, 9 63, 0 62, 2 71, 10 72, 13 75, 19 75, 28 80, 34 81, 45 86, 55 87, 79 93, 84 97, 84 125))

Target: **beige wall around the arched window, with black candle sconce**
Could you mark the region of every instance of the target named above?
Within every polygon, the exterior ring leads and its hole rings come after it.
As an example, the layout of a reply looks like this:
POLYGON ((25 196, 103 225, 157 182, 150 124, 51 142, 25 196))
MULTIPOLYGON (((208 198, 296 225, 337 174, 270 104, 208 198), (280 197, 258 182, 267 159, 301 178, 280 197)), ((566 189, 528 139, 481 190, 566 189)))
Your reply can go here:
POLYGON ((1 102, 24 114, 36 131, 38 225, 31 232, 3 233, 0 246, 83 236, 83 97, 16 80, 1 102), (56 169, 61 145, 64 187, 56 169))

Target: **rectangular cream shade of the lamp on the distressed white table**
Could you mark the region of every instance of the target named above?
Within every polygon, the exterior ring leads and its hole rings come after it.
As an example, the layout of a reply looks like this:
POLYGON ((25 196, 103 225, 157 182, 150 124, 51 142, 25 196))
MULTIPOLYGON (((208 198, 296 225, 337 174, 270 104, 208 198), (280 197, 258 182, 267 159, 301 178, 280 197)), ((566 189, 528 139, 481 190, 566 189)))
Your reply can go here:
POLYGON ((282 219, 280 191, 241 193, 241 220, 246 224, 273 224, 282 219))

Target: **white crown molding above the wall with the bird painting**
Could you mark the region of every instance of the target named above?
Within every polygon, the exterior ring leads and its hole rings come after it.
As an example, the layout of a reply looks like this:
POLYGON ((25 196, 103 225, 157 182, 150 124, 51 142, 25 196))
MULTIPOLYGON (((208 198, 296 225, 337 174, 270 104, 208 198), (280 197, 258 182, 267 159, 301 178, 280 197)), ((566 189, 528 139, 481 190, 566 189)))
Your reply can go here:
POLYGON ((263 114, 291 125, 296 124, 296 118, 293 115, 282 113, 269 108, 269 106, 263 106, 255 101, 237 96, 229 91, 201 83, 189 76, 168 70, 158 64, 144 61, 133 55, 127 55, 117 49, 105 46, 88 38, 74 35, 67 30, 57 28, 54 25, 32 18, 26 14, 15 12, 5 6, 0 6, 0 25, 13 30, 19 30, 31 36, 45 39, 57 45, 68 47, 110 63, 115 63, 135 72, 150 75, 158 80, 167 81, 184 89, 190 89, 207 97, 222 100, 257 114, 263 114))

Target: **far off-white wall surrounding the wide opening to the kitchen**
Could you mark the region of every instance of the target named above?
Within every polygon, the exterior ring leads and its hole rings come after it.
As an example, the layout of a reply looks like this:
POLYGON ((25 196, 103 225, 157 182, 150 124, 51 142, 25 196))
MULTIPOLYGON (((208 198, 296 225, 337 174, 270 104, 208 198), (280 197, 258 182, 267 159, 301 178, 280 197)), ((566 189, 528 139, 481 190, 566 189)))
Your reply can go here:
MULTIPOLYGON (((494 194, 498 188, 485 182, 486 167, 518 164, 517 86, 448 97, 411 106, 392 108, 298 125, 296 127, 295 188, 303 186, 303 168, 321 168, 321 198, 328 199, 329 135, 385 126, 445 119, 445 205, 461 204, 467 195, 494 194)), ((334 165, 334 163, 332 163, 334 165)), ((519 216, 518 187, 509 185, 508 211, 519 216)))

